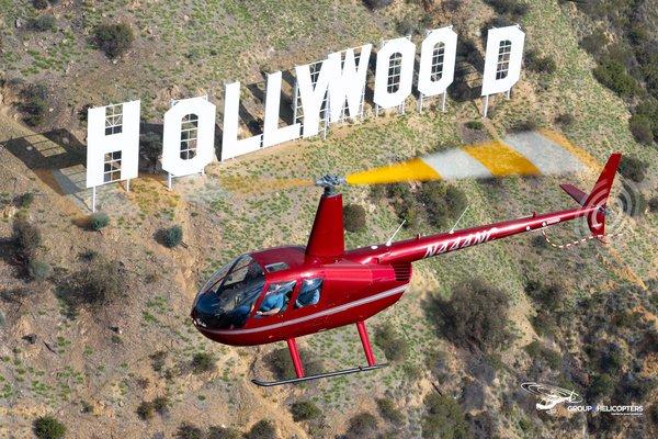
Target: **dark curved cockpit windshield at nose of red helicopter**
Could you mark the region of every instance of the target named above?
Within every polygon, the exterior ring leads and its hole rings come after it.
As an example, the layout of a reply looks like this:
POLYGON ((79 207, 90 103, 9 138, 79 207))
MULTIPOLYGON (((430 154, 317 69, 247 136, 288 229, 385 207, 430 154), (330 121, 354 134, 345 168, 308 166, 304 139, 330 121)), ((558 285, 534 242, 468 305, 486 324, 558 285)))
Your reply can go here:
POLYGON ((196 322, 209 329, 231 329, 245 325, 265 283, 262 267, 243 255, 213 274, 194 305, 196 322))

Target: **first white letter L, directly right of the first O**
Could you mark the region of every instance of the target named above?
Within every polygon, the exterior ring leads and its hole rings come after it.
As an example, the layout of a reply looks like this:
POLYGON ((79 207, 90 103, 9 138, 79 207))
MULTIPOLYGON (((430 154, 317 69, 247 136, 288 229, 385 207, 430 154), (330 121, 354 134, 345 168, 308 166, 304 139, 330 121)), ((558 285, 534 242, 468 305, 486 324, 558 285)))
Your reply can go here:
POLYGON ((222 137, 222 157, 226 160, 242 154, 258 150, 261 146, 262 134, 238 139, 240 117, 240 82, 227 83, 224 92, 224 135, 222 137))

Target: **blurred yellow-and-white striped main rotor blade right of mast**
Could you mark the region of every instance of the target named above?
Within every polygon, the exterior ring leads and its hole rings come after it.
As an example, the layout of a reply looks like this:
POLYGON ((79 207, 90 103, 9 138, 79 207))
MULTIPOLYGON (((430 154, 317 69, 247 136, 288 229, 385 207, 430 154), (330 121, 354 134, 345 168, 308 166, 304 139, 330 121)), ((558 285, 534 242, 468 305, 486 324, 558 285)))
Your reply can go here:
POLYGON ((582 151, 549 131, 514 133, 501 140, 446 149, 345 177, 349 184, 556 176, 585 169, 582 151))

